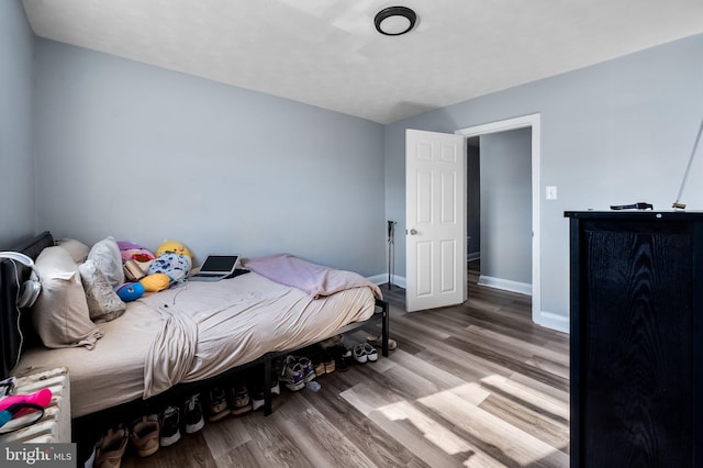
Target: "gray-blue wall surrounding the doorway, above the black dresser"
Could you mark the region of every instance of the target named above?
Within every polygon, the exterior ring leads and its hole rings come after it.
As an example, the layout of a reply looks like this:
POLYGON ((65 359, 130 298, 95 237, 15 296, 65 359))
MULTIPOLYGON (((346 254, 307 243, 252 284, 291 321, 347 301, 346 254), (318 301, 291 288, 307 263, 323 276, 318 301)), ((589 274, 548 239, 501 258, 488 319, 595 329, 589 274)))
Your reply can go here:
MULTIPOLYGON (((703 35, 472 99, 386 126, 386 211, 404 232, 405 129, 455 132, 532 113, 542 115, 542 309, 569 312, 568 223, 565 210, 674 201, 703 114, 703 35)), ((703 209, 703 155, 682 200, 703 209)), ((483 239, 486 242, 486 239, 483 239)), ((397 274, 405 276, 397 238, 397 274)))

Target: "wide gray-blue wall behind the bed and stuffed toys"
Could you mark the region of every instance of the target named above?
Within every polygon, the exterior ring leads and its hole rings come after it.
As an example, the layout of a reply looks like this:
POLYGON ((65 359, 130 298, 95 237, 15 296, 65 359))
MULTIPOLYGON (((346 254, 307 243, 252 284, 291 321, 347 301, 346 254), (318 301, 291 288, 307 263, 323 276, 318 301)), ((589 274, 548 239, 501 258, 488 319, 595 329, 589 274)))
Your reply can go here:
POLYGON ((386 270, 383 127, 36 40, 38 223, 386 270))

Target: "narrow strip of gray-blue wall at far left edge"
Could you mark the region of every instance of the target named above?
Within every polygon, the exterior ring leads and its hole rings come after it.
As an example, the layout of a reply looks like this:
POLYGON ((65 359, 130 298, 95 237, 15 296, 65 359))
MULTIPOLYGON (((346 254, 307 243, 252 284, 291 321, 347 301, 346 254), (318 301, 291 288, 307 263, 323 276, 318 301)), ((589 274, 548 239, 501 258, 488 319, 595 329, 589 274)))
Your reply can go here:
POLYGON ((22 3, 0 1, 0 250, 36 230, 33 44, 22 3))

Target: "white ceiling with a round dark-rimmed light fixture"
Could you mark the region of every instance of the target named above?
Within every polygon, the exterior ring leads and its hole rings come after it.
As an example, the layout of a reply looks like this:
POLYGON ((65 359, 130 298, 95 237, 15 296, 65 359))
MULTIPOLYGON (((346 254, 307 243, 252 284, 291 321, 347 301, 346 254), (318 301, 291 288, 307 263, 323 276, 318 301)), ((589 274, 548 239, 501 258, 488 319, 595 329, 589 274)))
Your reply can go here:
POLYGON ((46 37, 379 123, 703 32, 703 0, 23 0, 46 37), (417 13, 404 36, 375 14, 417 13))

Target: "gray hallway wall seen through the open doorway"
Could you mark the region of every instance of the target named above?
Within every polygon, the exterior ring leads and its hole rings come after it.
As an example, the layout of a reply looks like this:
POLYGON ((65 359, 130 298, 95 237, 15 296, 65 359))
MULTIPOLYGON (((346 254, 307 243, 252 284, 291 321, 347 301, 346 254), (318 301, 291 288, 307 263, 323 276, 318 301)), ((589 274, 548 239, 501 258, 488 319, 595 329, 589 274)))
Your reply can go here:
POLYGON ((480 138, 481 276, 532 285, 532 131, 480 138))

